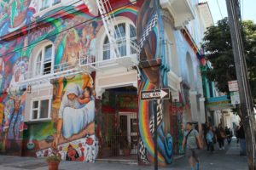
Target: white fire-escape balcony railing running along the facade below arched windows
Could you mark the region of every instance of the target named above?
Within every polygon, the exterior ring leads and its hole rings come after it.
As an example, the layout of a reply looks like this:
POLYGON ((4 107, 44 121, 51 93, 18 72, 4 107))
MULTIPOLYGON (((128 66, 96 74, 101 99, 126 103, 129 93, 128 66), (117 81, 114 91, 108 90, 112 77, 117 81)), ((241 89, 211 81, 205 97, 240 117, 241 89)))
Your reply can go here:
MULTIPOLYGON (((113 69, 113 65, 128 68, 138 64, 137 57, 140 49, 138 48, 135 39, 123 41, 122 43, 119 43, 118 47, 120 54, 123 55, 120 57, 111 57, 109 59, 96 58, 95 55, 91 55, 90 51, 81 50, 79 52, 79 59, 73 59, 60 65, 54 65, 53 67, 51 65, 46 65, 42 69, 41 74, 36 74, 36 71, 26 71, 26 74, 23 74, 18 82, 11 82, 10 88, 50 82, 51 79, 73 76, 81 72, 90 73, 92 71, 102 71, 102 69, 106 68, 113 69), (127 50, 127 48, 129 48, 129 50, 127 50), (126 53, 127 51, 129 52, 128 55, 126 53)), ((103 51, 103 53, 107 53, 107 51, 111 53, 111 47, 106 47, 103 51)))

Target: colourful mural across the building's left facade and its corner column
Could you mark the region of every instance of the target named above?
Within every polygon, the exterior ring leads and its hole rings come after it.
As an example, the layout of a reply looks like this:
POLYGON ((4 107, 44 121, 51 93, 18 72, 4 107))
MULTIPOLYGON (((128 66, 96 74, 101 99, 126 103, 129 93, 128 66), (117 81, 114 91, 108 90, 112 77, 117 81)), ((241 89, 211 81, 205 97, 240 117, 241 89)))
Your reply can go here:
MULTIPOLYGON (((4 105, 0 146, 2 151, 11 151, 9 145, 14 144, 12 150, 20 151, 22 142, 22 155, 59 154, 63 160, 95 161, 98 142, 93 75, 78 74, 52 81, 51 121, 32 122, 23 132, 26 87, 15 95, 10 90, 15 90, 11 87, 17 82, 30 78, 28 72, 32 71, 33 49, 43 42, 54 44, 55 72, 73 68, 78 63, 79 54, 86 56, 82 62, 92 63, 96 60, 96 36, 102 28, 101 17, 90 14, 84 4, 55 8, 35 19, 33 14, 37 5, 32 0, 0 2, 0 36, 19 32, 15 37, 3 37, 0 42, 0 103, 4 105)), ((113 7, 116 16, 125 16, 139 23, 137 35, 142 48, 140 66, 143 73, 139 92, 167 87, 166 72, 169 68, 161 42, 164 37, 158 1, 138 1, 131 5, 129 0, 120 0, 113 1, 113 7)), ((126 99, 120 105, 124 108, 135 106, 128 104, 126 99)), ((139 101, 139 108, 140 161, 153 161, 152 108, 158 108, 158 157, 162 165, 171 163, 172 136, 165 118, 168 102, 157 101, 155 105, 154 102, 139 101)))

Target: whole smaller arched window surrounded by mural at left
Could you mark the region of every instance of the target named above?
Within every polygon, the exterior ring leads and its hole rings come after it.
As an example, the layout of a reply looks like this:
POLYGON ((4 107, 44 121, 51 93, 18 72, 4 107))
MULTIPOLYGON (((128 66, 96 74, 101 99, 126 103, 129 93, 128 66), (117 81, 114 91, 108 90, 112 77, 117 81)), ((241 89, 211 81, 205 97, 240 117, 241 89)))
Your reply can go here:
POLYGON ((39 48, 34 59, 33 76, 46 75, 52 71, 54 48, 52 44, 44 44, 39 48))

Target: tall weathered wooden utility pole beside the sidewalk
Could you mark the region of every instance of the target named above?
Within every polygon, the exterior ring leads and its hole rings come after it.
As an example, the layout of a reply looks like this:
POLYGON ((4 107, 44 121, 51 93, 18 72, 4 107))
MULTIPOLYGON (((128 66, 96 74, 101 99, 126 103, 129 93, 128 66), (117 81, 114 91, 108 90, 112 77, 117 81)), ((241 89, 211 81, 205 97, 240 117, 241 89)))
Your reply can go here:
POLYGON ((247 64, 241 39, 240 6, 238 0, 226 0, 233 54, 236 66, 241 116, 247 144, 248 169, 256 170, 255 163, 255 118, 253 115, 253 98, 247 77, 247 64))

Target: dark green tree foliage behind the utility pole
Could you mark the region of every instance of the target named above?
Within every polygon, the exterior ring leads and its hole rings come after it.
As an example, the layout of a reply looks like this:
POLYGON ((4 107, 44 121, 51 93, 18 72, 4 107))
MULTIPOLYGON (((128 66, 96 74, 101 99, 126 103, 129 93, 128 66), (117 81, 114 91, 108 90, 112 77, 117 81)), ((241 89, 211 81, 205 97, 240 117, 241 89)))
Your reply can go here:
MULTIPOLYGON (((241 36, 253 99, 256 99, 256 25, 253 21, 241 22, 241 36)), ((228 81, 236 80, 236 68, 227 18, 219 20, 217 26, 207 28, 203 48, 207 51, 206 58, 212 63, 212 69, 203 71, 203 75, 216 82, 220 92, 228 93, 228 81)))

